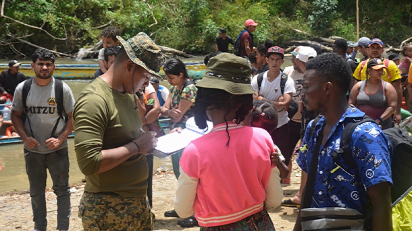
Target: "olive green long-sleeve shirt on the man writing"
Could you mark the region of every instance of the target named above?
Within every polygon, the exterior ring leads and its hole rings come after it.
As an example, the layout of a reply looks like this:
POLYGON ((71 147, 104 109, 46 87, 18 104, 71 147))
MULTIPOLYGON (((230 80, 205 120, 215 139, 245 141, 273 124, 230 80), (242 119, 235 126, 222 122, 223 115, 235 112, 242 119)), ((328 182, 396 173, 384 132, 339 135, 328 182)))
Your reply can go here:
POLYGON ((148 166, 143 154, 97 173, 101 150, 123 146, 140 135, 142 120, 133 95, 111 88, 100 78, 80 93, 73 110, 74 150, 86 176, 87 192, 115 192, 123 197, 146 197, 148 166))

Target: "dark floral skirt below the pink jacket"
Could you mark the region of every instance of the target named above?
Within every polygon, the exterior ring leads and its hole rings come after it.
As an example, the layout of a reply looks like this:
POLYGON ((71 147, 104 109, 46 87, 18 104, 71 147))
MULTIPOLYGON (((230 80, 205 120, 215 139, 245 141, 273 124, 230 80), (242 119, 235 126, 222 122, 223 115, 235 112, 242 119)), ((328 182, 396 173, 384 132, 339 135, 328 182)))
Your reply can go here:
POLYGON ((200 227, 200 231, 274 231, 272 219, 266 210, 256 212, 246 218, 243 218, 234 223, 212 226, 212 227, 200 227))

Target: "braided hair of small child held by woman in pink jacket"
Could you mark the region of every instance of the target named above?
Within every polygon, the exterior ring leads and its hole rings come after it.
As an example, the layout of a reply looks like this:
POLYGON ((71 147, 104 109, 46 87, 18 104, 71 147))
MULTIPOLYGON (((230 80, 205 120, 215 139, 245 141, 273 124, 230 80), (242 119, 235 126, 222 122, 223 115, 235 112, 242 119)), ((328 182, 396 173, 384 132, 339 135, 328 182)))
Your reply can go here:
POLYGON ((267 100, 253 101, 253 108, 250 115, 250 126, 266 130, 268 133, 277 128, 277 109, 267 100))

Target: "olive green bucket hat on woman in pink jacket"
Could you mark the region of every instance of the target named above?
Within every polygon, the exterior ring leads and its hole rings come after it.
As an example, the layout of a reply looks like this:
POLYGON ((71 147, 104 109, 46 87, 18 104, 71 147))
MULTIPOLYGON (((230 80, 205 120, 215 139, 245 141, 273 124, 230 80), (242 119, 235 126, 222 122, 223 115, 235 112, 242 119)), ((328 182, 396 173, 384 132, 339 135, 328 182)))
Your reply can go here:
POLYGON ((215 88, 231 94, 253 94, 250 85, 251 67, 242 57, 230 53, 222 53, 208 63, 204 77, 196 87, 215 88))

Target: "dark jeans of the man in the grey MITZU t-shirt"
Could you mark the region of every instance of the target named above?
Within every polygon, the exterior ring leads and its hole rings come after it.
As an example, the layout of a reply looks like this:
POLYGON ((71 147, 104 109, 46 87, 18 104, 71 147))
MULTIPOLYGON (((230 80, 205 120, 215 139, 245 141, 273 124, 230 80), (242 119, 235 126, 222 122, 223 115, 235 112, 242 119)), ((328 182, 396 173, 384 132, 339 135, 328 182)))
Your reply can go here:
POLYGON ((49 169, 53 180, 53 190, 57 195, 57 229, 69 229, 70 186, 68 149, 60 149, 48 154, 24 150, 26 173, 30 183, 34 228, 46 230, 46 179, 49 169))

